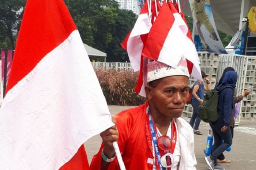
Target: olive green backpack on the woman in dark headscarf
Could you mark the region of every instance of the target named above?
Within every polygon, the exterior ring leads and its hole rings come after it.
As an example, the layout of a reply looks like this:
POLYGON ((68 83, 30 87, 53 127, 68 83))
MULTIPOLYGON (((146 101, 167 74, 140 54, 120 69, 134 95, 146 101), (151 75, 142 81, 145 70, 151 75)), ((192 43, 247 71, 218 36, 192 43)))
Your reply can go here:
POLYGON ((206 92, 202 105, 199 106, 198 117, 204 122, 215 122, 219 118, 218 102, 219 92, 225 88, 232 88, 231 86, 223 87, 221 90, 209 90, 206 92))

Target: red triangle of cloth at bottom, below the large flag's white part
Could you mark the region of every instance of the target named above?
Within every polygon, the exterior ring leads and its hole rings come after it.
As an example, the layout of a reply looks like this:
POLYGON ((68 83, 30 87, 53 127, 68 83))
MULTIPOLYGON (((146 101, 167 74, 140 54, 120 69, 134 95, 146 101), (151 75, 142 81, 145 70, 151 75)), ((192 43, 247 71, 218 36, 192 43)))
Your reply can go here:
POLYGON ((83 145, 78 149, 73 158, 63 165, 60 170, 90 170, 83 145))

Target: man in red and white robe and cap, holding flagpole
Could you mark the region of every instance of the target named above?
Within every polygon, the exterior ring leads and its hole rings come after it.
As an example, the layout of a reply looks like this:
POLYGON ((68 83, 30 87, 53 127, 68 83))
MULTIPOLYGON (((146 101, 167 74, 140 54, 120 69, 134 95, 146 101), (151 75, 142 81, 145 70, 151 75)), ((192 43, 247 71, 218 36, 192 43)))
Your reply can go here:
POLYGON ((117 114, 116 126, 101 133, 91 170, 119 170, 112 141, 118 141, 127 170, 196 170, 193 129, 180 118, 189 97, 188 77, 184 59, 176 68, 148 63, 148 100, 117 114))

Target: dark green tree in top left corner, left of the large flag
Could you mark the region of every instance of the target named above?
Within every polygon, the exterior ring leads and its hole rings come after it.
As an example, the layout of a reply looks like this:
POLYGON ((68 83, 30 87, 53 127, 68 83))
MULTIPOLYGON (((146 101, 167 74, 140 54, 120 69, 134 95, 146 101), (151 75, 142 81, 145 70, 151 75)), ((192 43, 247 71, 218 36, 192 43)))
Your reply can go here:
POLYGON ((0 0, 0 48, 15 49, 26 0, 0 0))

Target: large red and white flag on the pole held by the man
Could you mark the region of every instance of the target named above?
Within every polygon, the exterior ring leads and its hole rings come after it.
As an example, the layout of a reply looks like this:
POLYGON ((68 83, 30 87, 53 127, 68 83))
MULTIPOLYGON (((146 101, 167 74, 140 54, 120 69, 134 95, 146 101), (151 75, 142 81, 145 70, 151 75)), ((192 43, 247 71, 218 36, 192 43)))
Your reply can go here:
POLYGON ((88 170, 111 115, 63 0, 27 0, 0 108, 1 170, 88 170))

